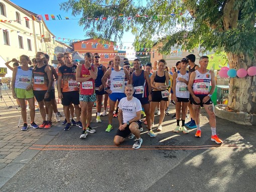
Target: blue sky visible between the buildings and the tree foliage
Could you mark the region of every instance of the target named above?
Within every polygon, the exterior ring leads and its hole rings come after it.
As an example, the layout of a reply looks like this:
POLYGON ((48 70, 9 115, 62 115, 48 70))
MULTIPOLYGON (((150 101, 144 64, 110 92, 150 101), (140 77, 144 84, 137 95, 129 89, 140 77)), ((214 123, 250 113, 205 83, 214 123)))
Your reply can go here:
MULTIPOLYGON (((35 0, 11 0, 14 4, 29 10, 35 14, 42 15, 44 21, 48 27, 48 29, 55 35, 55 37, 65 38, 65 39, 75 39, 75 40, 83 40, 88 39, 89 37, 85 36, 85 31, 83 30, 82 26, 78 25, 78 21, 80 17, 74 17, 71 15, 71 11, 68 13, 65 11, 60 10, 60 3, 66 2, 65 0, 43 0, 43 1, 35 1, 35 0), (44 8, 45 6, 45 8, 44 8), (44 15, 48 14, 49 18, 50 15, 54 15, 56 20, 46 21, 44 15), (57 19, 57 15, 62 17, 62 20, 57 19), (65 20, 64 18, 68 17, 70 20, 65 20), (71 20, 74 19, 74 20, 71 20)), ((135 36, 131 33, 127 32, 124 33, 121 42, 123 43, 123 47, 132 47, 133 40, 135 36), (129 41, 127 41, 129 40, 129 41)), ((117 42, 119 45, 120 42, 117 42)), ((125 50, 126 53, 129 50, 125 50)), ((129 52, 133 52, 130 50, 129 52)))

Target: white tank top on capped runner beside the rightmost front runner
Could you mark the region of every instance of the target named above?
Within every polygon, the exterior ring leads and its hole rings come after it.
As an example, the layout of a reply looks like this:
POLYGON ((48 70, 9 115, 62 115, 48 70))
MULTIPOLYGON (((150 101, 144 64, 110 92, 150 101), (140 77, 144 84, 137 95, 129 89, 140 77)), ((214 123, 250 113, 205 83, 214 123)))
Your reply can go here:
POLYGON ((179 81, 179 77, 185 79, 186 81, 189 80, 188 71, 185 75, 182 75, 180 71, 177 72, 177 78, 176 78, 176 97, 180 98, 189 98, 189 91, 188 91, 188 85, 184 83, 183 81, 179 81))

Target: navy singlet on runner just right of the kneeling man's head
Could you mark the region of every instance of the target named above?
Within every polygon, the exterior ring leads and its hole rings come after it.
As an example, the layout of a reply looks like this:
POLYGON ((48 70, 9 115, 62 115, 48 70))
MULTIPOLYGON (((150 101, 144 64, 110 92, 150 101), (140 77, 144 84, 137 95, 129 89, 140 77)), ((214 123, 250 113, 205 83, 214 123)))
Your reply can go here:
POLYGON ((137 76, 135 72, 133 73, 134 97, 136 98, 149 97, 148 84, 144 73, 144 70, 142 70, 139 76, 137 76))

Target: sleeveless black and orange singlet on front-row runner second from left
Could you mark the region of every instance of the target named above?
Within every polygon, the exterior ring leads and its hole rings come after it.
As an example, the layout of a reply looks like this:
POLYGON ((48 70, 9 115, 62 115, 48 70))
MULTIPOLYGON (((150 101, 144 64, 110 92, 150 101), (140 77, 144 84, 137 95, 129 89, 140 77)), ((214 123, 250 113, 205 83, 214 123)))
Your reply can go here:
POLYGON ((48 65, 44 65, 41 68, 38 68, 37 65, 33 69, 33 75, 34 75, 34 86, 33 90, 35 91, 47 91, 48 90, 48 76, 45 72, 45 68, 48 65))

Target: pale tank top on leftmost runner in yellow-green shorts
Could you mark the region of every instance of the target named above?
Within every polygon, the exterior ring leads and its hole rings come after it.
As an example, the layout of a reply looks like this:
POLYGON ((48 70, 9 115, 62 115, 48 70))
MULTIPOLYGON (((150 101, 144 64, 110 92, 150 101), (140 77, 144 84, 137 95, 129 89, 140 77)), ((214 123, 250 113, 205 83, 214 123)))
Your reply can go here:
POLYGON ((28 71, 24 71, 21 66, 18 67, 16 78, 15 78, 15 88, 26 89, 27 86, 32 83, 33 69, 29 68, 28 71))

